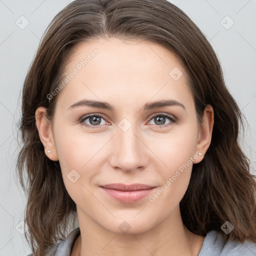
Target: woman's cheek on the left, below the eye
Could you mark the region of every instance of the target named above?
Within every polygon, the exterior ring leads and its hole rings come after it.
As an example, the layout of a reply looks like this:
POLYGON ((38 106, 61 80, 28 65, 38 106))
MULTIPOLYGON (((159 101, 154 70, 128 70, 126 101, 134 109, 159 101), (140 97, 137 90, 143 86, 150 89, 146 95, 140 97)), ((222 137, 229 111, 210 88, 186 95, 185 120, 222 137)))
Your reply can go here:
POLYGON ((109 138, 74 130, 56 125, 54 142, 66 190, 75 201, 81 191, 90 189, 91 180, 100 169, 99 157, 104 151, 100 148, 109 138))

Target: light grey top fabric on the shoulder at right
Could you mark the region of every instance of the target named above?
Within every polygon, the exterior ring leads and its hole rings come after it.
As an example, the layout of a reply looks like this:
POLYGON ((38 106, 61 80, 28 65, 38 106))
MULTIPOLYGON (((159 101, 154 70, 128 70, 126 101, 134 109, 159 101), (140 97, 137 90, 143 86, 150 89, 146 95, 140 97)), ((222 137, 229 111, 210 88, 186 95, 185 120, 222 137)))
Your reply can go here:
POLYGON ((211 230, 205 236, 198 256, 255 256, 256 243, 224 240, 221 233, 211 230))

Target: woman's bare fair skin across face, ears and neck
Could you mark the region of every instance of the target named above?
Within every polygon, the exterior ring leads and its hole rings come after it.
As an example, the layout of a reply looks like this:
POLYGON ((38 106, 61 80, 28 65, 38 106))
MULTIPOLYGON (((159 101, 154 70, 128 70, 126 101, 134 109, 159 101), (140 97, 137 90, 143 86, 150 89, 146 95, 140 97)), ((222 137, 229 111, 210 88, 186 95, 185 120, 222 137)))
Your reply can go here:
POLYGON ((122 203, 99 185, 149 184, 156 186, 150 193, 154 195, 189 157, 194 164, 203 159, 211 140, 212 107, 206 106, 200 127, 181 62, 156 43, 110 37, 76 45, 66 74, 94 48, 99 53, 59 92, 53 123, 45 118, 44 107, 35 112, 45 154, 59 160, 65 187, 76 203, 81 234, 71 255, 198 255, 204 237, 186 229, 179 209, 192 163, 153 202, 146 196, 122 203), (183 73, 177 80, 169 75, 174 67, 183 73), (106 101, 114 110, 68 109, 81 99, 106 101), (177 100, 185 109, 178 105, 143 109, 144 104, 163 99, 177 100), (93 126, 89 118, 83 121, 88 127, 78 123, 92 113, 103 115, 100 124, 93 126), (151 117, 154 113, 170 114, 176 122, 165 117, 159 124, 151 117), (123 118, 131 125, 125 131, 118 126, 123 118), (80 175, 74 183, 67 178, 72 169, 80 175), (126 233, 118 228, 123 221, 130 226, 126 233))

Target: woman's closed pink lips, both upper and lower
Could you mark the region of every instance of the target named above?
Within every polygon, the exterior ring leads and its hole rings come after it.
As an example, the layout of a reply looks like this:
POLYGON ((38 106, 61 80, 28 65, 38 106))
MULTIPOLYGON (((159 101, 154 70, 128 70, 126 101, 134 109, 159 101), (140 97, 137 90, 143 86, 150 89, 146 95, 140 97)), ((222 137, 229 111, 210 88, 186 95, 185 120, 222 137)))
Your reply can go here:
POLYGON ((136 202, 147 196, 155 186, 146 184, 112 183, 100 186, 111 197, 124 203, 136 202))

